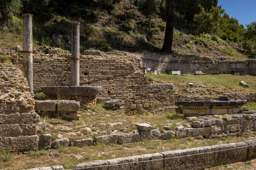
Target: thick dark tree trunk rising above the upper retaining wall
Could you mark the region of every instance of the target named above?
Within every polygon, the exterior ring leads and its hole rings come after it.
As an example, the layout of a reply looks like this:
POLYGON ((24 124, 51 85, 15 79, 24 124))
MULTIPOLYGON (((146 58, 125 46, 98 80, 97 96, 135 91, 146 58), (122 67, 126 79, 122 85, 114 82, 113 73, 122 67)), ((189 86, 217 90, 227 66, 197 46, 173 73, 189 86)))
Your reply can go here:
POLYGON ((162 52, 171 53, 174 28, 174 0, 166 1, 166 28, 162 52))

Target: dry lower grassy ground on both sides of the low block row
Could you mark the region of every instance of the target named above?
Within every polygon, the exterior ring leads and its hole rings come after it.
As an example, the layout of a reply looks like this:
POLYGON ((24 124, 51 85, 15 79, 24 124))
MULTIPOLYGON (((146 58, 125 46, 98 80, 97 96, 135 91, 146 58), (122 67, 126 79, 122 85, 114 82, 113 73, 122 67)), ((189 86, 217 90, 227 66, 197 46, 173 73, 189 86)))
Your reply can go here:
MULTIPOLYGON (((251 103, 249 107, 255 107, 256 103, 251 103)), ((153 129, 161 128, 163 124, 166 123, 176 123, 183 122, 182 117, 172 119, 172 113, 157 114, 153 115, 151 113, 140 115, 140 116, 126 116, 121 111, 109 111, 102 107, 102 104, 97 104, 97 106, 91 111, 83 111, 80 114, 80 121, 67 121, 57 119, 53 122, 48 116, 41 116, 40 121, 45 122, 46 132, 51 133, 53 140, 56 139, 58 134, 62 134, 64 137, 68 137, 71 141, 74 139, 88 138, 97 135, 111 134, 113 130, 119 130, 119 132, 131 132, 137 130, 134 126, 135 123, 141 123, 143 121, 151 122, 153 129), (109 114, 111 117, 106 117, 109 114), (122 125, 117 125, 110 127, 108 122, 122 122, 122 125), (106 128, 99 126, 100 123, 106 123, 106 128), (154 125, 155 124, 155 125, 154 125), (84 126, 83 126, 84 125, 84 126), (93 126, 90 126, 93 125, 93 126), (82 127, 90 127, 93 130, 92 134, 81 134, 82 127), (62 128, 72 128, 69 131, 61 131, 62 128), (126 129, 125 129, 126 128, 126 129), (104 133, 100 133, 105 131, 104 133), (68 135, 69 132, 74 132, 77 135, 68 135), (98 134, 96 134, 96 132, 98 134)), ((173 129, 176 125, 173 125, 173 129)), ((171 130, 173 130, 171 129, 171 130)), ((161 129, 160 129, 161 130, 161 129)), ((0 151, 0 169, 29 169, 36 167, 45 167, 52 165, 63 165, 65 169, 74 168, 74 165, 81 162, 87 162, 91 160, 98 159, 112 159, 117 157, 127 157, 134 155, 142 155, 148 153, 157 153, 163 151, 187 149, 201 146, 212 146, 218 145, 220 143, 231 143, 231 142, 241 142, 244 140, 254 139, 256 134, 251 134, 242 137, 221 137, 217 139, 205 139, 196 140, 192 138, 185 139, 174 139, 170 138, 168 140, 154 140, 138 143, 126 143, 123 145, 105 145, 98 144, 96 146, 90 147, 60 147, 58 149, 49 150, 37 150, 31 151, 27 154, 17 155, 14 152, 0 151), (56 157, 49 157, 49 153, 54 152, 56 157), (71 155, 83 156, 83 159, 77 160, 72 158, 71 155)), ((71 142, 72 144, 72 142, 71 142)))

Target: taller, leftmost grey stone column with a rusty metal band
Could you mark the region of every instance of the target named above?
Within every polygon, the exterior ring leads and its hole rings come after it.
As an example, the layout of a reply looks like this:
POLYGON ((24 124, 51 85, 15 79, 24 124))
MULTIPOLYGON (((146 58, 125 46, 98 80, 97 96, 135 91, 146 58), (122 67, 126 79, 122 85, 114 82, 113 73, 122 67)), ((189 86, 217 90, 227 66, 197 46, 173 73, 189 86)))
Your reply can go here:
POLYGON ((23 14, 23 72, 29 89, 33 94, 33 52, 32 52, 32 16, 23 14))

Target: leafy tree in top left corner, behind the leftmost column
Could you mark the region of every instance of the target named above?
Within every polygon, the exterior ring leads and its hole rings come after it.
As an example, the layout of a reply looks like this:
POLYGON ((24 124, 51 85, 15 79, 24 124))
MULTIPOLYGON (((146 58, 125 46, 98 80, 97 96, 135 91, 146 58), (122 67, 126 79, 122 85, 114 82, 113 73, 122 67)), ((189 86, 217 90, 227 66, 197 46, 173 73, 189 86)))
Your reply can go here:
POLYGON ((0 11, 4 18, 6 27, 10 27, 10 15, 15 15, 20 12, 22 7, 21 0, 1 0, 0 11))

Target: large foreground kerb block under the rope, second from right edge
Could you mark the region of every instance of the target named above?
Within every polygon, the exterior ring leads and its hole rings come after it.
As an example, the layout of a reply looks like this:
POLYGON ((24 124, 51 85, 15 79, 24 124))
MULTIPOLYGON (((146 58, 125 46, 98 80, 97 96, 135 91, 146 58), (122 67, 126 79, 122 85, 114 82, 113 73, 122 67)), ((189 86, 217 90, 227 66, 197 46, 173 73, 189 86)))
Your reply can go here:
POLYGON ((241 160, 246 159, 247 155, 247 143, 229 143, 212 146, 214 148, 214 166, 231 164, 235 162, 240 162, 241 160), (240 148, 244 147, 244 148, 240 148), (237 149, 233 149, 237 148, 237 149), (230 150, 228 150, 230 149, 230 150), (225 151, 221 151, 225 150, 225 151), (219 151, 219 152, 216 152, 219 151))

